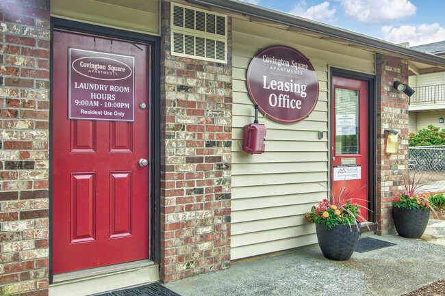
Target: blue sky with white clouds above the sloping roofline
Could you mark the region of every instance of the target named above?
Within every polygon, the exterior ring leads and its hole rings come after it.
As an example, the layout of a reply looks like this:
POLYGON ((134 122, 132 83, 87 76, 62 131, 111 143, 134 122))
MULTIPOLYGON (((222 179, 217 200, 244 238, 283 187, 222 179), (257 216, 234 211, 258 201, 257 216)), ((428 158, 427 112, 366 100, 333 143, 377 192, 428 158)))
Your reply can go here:
POLYGON ((445 40, 444 0, 240 0, 409 46, 445 40))

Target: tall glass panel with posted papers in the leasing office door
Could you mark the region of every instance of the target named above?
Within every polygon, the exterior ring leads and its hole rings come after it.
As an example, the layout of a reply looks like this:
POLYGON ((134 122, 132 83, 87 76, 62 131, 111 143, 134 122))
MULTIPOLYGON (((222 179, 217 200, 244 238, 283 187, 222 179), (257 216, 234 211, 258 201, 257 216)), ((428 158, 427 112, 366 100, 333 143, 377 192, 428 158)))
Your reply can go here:
POLYGON ((359 153, 359 91, 335 88, 335 154, 359 153))

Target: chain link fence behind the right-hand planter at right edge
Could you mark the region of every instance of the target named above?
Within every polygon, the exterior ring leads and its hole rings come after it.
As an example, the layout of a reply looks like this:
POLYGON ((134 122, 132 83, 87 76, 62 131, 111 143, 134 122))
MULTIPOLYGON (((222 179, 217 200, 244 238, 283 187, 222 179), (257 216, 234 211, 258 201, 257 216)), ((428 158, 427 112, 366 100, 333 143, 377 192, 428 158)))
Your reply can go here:
POLYGON ((422 189, 445 191, 445 146, 409 147, 409 170, 416 174, 422 189))

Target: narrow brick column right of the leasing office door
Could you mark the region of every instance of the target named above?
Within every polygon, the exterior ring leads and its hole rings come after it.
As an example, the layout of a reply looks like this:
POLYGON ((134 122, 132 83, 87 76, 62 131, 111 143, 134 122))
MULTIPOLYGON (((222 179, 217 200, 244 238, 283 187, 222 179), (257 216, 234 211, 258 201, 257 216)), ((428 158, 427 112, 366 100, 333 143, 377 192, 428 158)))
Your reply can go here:
POLYGON ((377 55, 377 234, 394 232, 393 193, 403 189, 408 170, 409 98, 395 90, 394 81, 408 83, 408 62, 377 55), (385 129, 398 131, 398 153, 385 153, 385 129))

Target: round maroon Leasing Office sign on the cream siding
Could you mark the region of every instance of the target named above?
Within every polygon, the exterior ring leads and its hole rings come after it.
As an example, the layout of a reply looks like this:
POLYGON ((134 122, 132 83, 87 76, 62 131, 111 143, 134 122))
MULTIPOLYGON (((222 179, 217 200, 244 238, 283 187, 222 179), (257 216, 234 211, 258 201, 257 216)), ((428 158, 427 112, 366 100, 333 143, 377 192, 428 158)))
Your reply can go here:
POLYGON ((274 45, 260 51, 251 60, 246 78, 253 103, 277 122, 305 119, 318 100, 314 67, 289 46, 274 45))

